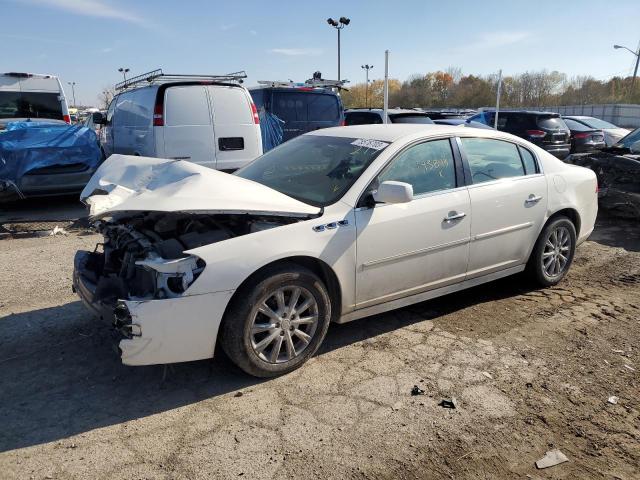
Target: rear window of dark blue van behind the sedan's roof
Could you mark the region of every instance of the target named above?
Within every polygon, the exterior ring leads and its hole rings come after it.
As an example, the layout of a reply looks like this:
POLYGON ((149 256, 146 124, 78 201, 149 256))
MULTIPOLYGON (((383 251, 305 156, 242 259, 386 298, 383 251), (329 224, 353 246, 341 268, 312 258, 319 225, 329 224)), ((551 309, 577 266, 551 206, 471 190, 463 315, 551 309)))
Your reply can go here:
POLYGON ((334 95, 274 92, 272 110, 285 122, 340 120, 340 105, 334 95))

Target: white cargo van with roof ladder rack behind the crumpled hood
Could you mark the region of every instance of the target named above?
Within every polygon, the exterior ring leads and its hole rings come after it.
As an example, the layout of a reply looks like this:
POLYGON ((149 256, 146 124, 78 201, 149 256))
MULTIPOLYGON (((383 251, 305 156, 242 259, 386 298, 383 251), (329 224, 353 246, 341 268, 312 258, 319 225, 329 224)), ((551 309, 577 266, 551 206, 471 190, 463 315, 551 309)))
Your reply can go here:
POLYGON ((260 121, 242 75, 169 75, 129 79, 109 105, 100 143, 113 153, 188 160, 236 170, 262 155, 260 121))

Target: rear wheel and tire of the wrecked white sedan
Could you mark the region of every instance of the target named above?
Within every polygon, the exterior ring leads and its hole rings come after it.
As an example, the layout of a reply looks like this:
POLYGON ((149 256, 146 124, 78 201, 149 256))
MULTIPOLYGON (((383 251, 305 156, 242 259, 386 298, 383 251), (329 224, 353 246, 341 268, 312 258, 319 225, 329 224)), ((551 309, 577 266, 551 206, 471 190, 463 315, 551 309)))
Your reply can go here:
POLYGON ((533 247, 527 264, 529 277, 543 287, 557 285, 569 271, 575 250, 575 226, 567 217, 554 218, 533 247))

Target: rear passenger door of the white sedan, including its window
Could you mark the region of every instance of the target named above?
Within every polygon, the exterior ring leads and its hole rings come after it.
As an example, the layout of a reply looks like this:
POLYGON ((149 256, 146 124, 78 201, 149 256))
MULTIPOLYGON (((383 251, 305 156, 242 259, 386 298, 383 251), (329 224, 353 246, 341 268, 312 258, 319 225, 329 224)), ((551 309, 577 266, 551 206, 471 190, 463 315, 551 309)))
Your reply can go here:
POLYGON ((472 184, 467 278, 526 263, 542 229, 547 181, 534 155, 491 138, 460 140, 472 184))

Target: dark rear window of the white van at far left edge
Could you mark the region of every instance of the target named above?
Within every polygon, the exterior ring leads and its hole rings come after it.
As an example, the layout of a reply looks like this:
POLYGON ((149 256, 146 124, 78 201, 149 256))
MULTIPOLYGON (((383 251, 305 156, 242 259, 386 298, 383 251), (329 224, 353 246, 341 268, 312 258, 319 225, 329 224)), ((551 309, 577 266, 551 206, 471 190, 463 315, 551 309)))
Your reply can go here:
POLYGON ((0 92, 0 118, 62 120, 62 104, 57 93, 0 92))

